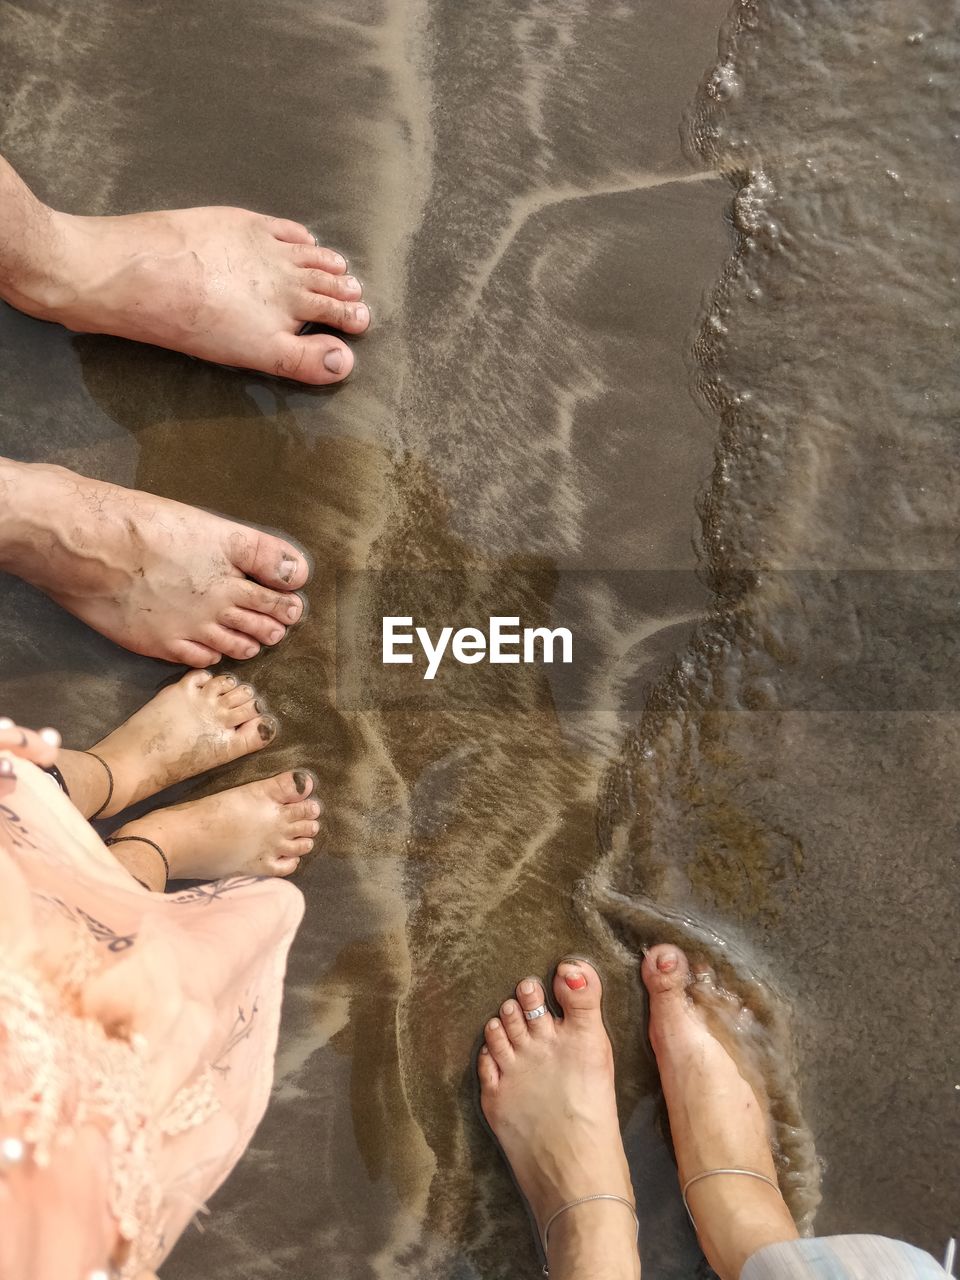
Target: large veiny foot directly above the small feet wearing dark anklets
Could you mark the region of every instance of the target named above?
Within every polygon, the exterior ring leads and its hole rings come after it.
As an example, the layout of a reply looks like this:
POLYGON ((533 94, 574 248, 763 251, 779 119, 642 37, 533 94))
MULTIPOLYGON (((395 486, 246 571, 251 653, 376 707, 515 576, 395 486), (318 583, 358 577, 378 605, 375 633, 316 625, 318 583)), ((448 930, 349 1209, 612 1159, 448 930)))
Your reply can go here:
POLYGON ((210 667, 298 622, 310 568, 271 534, 42 463, 0 460, 0 570, 116 644, 210 667))

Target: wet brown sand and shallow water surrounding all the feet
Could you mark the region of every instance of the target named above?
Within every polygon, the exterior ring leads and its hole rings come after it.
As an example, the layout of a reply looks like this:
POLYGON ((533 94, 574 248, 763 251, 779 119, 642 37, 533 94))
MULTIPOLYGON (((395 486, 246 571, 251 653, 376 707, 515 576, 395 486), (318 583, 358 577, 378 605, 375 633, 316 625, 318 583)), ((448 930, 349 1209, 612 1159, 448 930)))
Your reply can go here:
MULTIPOLYGON (((818 1229, 956 1228, 960 14, 727 8, 0 5, 41 195, 303 219, 376 316, 334 393, 0 316, 10 453, 317 559, 252 664, 283 740, 218 785, 310 763, 333 837, 275 1103, 170 1280, 532 1274, 467 1062, 567 950, 607 978, 644 1262, 690 1276, 636 979, 663 934, 792 1028, 818 1229), (580 657, 426 694, 370 663, 387 608, 552 618, 580 657)), ((12 714, 81 744, 164 675, 0 591, 12 714)))

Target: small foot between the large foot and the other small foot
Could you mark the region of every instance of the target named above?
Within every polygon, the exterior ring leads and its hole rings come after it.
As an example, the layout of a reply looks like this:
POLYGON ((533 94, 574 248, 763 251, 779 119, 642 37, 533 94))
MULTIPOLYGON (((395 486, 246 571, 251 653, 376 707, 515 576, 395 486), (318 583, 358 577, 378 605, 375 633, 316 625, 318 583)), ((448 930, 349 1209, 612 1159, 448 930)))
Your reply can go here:
POLYGON ((161 689, 91 748, 114 778, 110 803, 97 817, 108 818, 174 782, 259 751, 278 730, 265 712, 256 690, 230 675, 192 671, 161 689))

